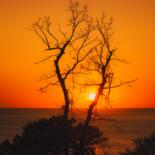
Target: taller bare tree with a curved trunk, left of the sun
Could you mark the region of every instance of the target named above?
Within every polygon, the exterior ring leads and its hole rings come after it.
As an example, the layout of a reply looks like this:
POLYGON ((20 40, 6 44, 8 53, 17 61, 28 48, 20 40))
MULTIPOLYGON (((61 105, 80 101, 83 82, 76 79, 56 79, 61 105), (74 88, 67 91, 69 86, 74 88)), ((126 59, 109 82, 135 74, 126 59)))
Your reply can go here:
POLYGON ((72 74, 76 74, 77 66, 99 45, 95 39, 92 39, 93 21, 88 16, 87 7, 81 7, 78 1, 70 0, 68 9, 70 13, 69 30, 64 32, 59 26, 59 37, 52 32, 49 17, 39 18, 31 27, 31 30, 46 46, 46 51, 50 51, 47 57, 36 64, 51 60, 51 68, 54 68, 52 74, 41 77, 41 79, 48 79, 50 82, 40 90, 41 92, 46 91, 51 85, 61 86, 65 100, 65 119, 68 118, 70 108, 69 88, 66 81, 72 74), (67 63, 64 61, 65 58, 69 60, 67 63))

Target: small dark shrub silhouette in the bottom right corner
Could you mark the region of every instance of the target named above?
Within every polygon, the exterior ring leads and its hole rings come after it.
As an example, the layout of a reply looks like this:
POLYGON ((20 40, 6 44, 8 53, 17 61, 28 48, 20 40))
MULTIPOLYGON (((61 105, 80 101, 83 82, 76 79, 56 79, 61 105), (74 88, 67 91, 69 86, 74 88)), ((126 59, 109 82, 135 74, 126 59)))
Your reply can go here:
POLYGON ((155 132, 134 140, 134 149, 127 149, 121 155, 155 155, 155 132))

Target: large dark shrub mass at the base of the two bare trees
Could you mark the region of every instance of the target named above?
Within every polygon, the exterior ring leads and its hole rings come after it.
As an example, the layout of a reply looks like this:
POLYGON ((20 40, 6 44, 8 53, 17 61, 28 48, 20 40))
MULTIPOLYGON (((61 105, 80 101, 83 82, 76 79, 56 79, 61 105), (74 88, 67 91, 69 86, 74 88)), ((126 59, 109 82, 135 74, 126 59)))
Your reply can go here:
POLYGON ((63 116, 30 122, 12 143, 9 140, 1 143, 0 155, 63 155, 66 143, 70 155, 93 155, 95 146, 103 148, 107 142, 99 128, 85 128, 73 118, 67 120, 65 129, 63 116))

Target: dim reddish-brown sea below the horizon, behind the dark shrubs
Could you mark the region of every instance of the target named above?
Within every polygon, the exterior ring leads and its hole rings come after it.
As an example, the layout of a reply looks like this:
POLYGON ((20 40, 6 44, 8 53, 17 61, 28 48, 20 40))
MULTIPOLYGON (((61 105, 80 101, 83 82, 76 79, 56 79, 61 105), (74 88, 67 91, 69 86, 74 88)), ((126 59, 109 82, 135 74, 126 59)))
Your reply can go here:
MULTIPOLYGON (((62 114, 61 109, 0 109, 0 143, 21 134, 22 127, 31 121, 49 118, 62 114)), ((86 110, 78 109, 70 115, 83 121, 86 110)), ((133 147, 133 140, 148 136, 155 132, 155 109, 107 109, 94 111, 95 119, 92 124, 101 128, 109 138, 106 151, 110 155, 119 155, 126 148, 133 147)), ((103 155, 97 150, 97 155, 103 155)))

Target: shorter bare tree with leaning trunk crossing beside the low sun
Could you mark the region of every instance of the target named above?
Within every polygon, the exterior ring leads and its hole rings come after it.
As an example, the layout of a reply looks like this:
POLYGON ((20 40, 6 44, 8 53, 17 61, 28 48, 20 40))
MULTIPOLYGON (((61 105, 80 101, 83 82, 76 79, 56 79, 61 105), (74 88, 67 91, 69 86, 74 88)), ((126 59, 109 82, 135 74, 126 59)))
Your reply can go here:
MULTIPOLYGON (((113 61, 125 62, 117 58, 115 52, 116 49, 112 47, 112 23, 113 19, 106 19, 103 15, 101 18, 96 20, 95 29, 96 36, 100 45, 95 48, 95 51, 89 55, 88 64, 82 66, 85 72, 91 72, 91 74, 96 74, 97 79, 93 79, 93 82, 86 82, 84 87, 96 87, 97 92, 94 100, 91 102, 88 108, 87 117, 85 120, 85 126, 89 126, 93 110, 97 106, 99 100, 104 97, 105 101, 109 101, 109 95, 111 88, 120 87, 124 84, 129 84, 135 80, 120 82, 113 84, 114 72, 111 69, 111 64, 113 61)), ((94 77, 93 77, 94 78, 94 77)))

